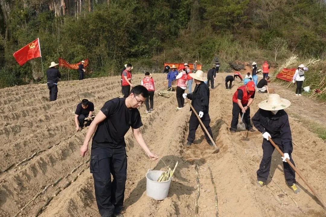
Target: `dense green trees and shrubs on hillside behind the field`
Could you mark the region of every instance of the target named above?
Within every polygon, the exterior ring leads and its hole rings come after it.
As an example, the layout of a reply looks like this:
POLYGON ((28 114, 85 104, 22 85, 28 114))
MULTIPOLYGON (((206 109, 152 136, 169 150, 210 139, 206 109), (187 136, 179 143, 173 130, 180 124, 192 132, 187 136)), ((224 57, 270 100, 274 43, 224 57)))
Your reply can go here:
MULTIPOLYGON (((11 0, 1 8, 0 88, 40 81, 58 57, 88 57, 86 77, 118 75, 127 62, 143 72, 163 69, 164 61, 198 60, 207 69, 214 57, 221 70, 234 60, 326 58, 325 0, 84 1, 80 13, 65 16, 47 2, 11 0), (20 67, 12 56, 37 37, 43 73, 40 58, 20 67)), ((77 70, 60 71, 63 79, 78 77, 77 70)))

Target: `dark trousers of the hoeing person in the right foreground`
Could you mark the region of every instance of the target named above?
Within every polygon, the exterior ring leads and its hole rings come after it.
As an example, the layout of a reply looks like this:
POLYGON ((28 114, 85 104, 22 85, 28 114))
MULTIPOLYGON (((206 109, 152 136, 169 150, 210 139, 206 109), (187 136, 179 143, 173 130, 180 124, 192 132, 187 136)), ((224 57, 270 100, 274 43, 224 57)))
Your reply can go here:
MULTIPOLYGON (((277 146, 281 149, 281 151, 284 153, 283 146, 281 144, 280 138, 273 138, 273 141, 277 144, 277 146)), ((257 170, 257 180, 266 182, 269 174, 269 170, 271 168, 271 161, 272 161, 272 154, 274 151, 274 146, 271 144, 271 142, 267 141, 266 139, 263 140, 263 144, 261 145, 263 148, 263 158, 261 159, 259 170, 257 170)), ((291 150, 289 151, 289 157, 290 162, 295 166, 294 161, 292 159, 291 153, 292 153, 292 144, 291 144, 291 150)), ((288 162, 283 162, 283 169, 284 169, 284 176, 287 184, 289 186, 292 186, 293 183, 295 183, 295 172, 292 170, 288 162)))

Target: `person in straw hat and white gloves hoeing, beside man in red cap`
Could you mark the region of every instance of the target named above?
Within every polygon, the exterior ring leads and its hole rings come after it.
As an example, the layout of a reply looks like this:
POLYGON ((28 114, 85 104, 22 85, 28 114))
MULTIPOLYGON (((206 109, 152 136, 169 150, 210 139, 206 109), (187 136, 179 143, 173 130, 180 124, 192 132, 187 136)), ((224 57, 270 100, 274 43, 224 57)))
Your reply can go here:
MULTIPOLYGON (((204 77, 204 73, 201 70, 197 70, 196 73, 191 73, 190 76, 194 79, 196 83, 196 87, 194 89, 194 92, 192 93, 184 93, 182 96, 183 98, 188 98, 191 100, 191 105, 194 107, 196 113, 202 120, 205 128, 209 132, 210 136, 213 137, 211 127, 209 124, 211 123, 211 118, 208 114, 208 105, 209 105, 209 88, 204 83, 207 79, 204 77)), ((189 134, 188 134, 188 142, 185 145, 185 147, 189 148, 190 145, 194 142, 195 136, 196 136, 196 129, 198 128, 199 120, 197 116, 195 115, 194 111, 190 108, 191 115, 189 118, 189 134)), ((205 130, 200 125, 201 129, 205 133, 206 141, 209 145, 213 146, 213 143, 211 142, 210 138, 206 134, 205 130)))

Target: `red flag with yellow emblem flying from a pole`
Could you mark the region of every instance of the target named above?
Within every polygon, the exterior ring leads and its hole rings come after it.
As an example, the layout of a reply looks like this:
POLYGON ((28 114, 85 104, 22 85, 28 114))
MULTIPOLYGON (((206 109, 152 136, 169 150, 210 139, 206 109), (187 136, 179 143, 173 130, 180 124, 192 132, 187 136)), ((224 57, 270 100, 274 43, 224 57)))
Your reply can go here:
POLYGON ((20 50, 17 50, 13 56, 21 66, 33 58, 41 57, 41 49, 38 38, 20 50))

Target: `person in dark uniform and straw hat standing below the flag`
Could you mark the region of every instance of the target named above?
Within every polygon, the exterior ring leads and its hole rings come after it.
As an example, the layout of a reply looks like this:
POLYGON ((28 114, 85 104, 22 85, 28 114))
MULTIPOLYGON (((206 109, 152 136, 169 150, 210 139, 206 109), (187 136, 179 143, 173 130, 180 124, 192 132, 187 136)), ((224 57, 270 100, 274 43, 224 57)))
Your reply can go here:
POLYGON ((61 75, 59 70, 57 69, 57 65, 59 65, 59 63, 51 62, 49 69, 46 71, 47 84, 50 90, 50 102, 57 100, 57 95, 58 95, 57 83, 58 80, 59 81, 61 80, 61 75))

